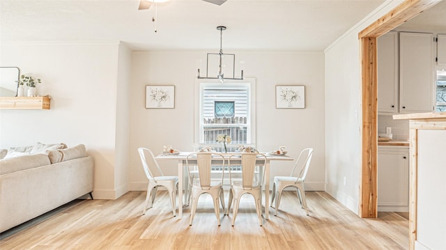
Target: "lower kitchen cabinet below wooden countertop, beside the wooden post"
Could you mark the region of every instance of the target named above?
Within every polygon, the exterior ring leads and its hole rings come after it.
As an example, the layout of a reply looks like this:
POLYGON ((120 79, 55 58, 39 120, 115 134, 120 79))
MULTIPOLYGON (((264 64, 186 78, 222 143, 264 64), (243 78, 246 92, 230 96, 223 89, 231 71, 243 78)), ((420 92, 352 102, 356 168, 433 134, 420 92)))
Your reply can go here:
POLYGON ((409 211, 409 148, 378 146, 378 212, 409 211))

